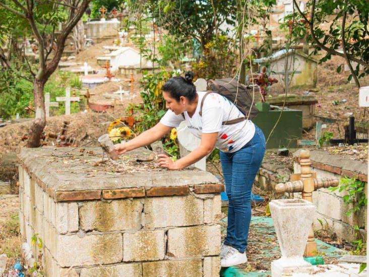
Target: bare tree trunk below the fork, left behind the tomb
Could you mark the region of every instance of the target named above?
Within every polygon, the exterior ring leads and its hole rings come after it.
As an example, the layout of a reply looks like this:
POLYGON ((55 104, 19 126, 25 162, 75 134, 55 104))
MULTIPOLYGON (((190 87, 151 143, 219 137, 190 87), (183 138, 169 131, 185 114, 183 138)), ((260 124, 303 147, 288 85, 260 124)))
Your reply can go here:
POLYGON ((41 145, 41 134, 46 126, 45 100, 43 96, 43 88, 45 81, 43 79, 34 79, 33 97, 35 100, 35 120, 28 132, 27 147, 34 148, 41 145))

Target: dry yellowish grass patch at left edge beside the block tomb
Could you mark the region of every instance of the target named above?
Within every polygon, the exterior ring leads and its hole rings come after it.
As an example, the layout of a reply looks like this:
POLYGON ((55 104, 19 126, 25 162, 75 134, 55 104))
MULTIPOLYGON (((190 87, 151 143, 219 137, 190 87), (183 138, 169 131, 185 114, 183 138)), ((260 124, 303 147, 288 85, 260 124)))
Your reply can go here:
POLYGON ((8 215, 4 224, 0 221, 0 254, 8 257, 7 268, 21 258, 18 212, 8 215))

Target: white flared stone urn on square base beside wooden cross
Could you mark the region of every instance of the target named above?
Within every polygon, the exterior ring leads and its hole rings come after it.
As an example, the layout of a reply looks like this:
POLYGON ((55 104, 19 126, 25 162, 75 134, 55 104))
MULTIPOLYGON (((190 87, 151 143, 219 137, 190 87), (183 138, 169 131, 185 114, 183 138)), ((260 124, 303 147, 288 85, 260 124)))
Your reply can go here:
POLYGON ((272 277, 291 272, 309 272, 303 259, 307 236, 313 223, 314 205, 303 199, 280 199, 269 203, 282 257, 272 262, 272 277))

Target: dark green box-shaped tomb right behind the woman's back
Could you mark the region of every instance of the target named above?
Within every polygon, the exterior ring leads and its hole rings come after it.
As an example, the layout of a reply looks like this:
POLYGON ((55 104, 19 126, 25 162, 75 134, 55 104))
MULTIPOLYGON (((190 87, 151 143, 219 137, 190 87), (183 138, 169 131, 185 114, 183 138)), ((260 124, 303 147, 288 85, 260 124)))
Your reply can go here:
POLYGON ((266 105, 268 103, 256 104, 260 112, 252 120, 263 131, 265 139, 268 139, 278 118, 281 117, 267 143, 267 148, 297 148, 297 140, 301 139, 302 135, 302 111, 285 107, 282 112, 281 107, 268 109, 266 105))

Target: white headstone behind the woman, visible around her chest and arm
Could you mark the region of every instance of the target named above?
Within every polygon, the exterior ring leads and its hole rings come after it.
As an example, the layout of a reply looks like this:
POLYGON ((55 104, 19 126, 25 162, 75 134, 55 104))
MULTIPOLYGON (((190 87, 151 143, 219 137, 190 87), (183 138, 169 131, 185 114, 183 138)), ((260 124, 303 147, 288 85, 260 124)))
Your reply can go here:
MULTIPOLYGON (((197 91, 206 90, 207 83, 205 79, 197 79, 194 83, 197 91)), ((186 121, 182 121, 177 128, 177 137, 179 141, 180 156, 186 156, 201 145, 201 139, 195 137, 187 128, 186 121)), ((206 157, 194 163, 194 167, 206 171, 206 157)))

